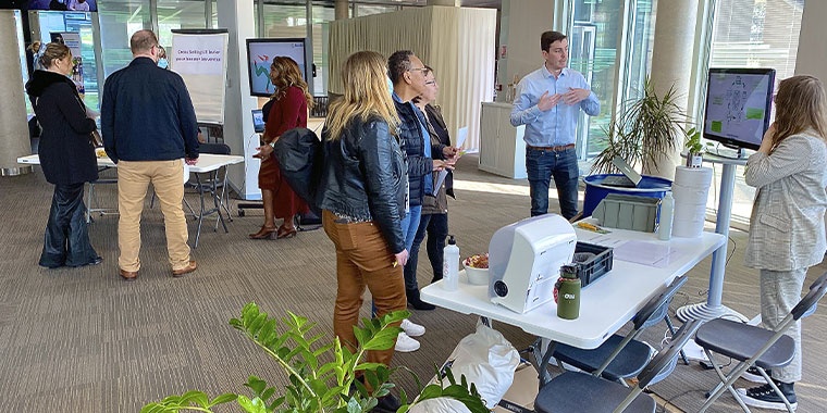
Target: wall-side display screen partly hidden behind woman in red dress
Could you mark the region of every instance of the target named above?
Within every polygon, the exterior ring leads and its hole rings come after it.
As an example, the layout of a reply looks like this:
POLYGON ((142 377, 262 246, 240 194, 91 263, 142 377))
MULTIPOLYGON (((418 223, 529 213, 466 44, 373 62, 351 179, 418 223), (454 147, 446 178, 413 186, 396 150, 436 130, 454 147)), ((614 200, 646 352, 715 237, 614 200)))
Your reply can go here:
POLYGON ((273 58, 284 55, 298 63, 305 80, 307 65, 305 64, 305 41, 303 38, 293 39, 247 39, 247 67, 250 77, 250 95, 269 97, 275 89, 270 82, 270 64, 273 58))

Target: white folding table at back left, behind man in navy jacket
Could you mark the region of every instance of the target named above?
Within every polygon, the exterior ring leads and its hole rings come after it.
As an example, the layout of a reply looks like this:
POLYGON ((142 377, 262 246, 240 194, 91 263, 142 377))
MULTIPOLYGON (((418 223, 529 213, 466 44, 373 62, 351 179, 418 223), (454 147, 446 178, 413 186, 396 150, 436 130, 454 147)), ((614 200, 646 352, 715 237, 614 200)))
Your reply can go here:
MULTIPOLYGON (((237 157, 237 155, 221 155, 221 154, 210 154, 210 153, 202 153, 198 157, 198 163, 195 165, 188 165, 184 168, 186 172, 187 168, 189 172, 194 173, 196 178, 196 188, 198 189, 198 195, 200 198, 200 211, 196 214, 198 218, 198 229, 196 230, 195 235, 195 243, 194 247, 198 247, 198 240, 201 236, 201 224, 203 223, 205 216, 209 216, 211 214, 218 214, 218 221, 215 223, 215 229, 218 229, 218 223, 220 222, 221 225, 224 227, 224 231, 229 233, 229 229, 226 227, 226 223, 224 223, 224 216, 221 213, 221 209, 223 208, 226 210, 226 205, 224 204, 224 197, 223 191, 226 189, 226 167, 229 165, 237 164, 244 162, 244 157, 237 157), (219 178, 221 175, 221 172, 223 171, 223 177, 219 178), (205 183, 201 183, 201 174, 209 174, 208 179, 205 183), (222 190, 221 195, 219 195, 219 188, 222 190), (205 202, 205 193, 209 192, 212 196, 212 202, 213 206, 211 209, 207 209, 206 202, 205 202)), ((40 164, 40 158, 36 154, 28 155, 28 157, 21 157, 17 158, 17 163, 22 164, 29 164, 29 165, 39 165, 40 164)), ((98 167, 101 171, 116 167, 118 165, 112 162, 109 157, 99 157, 98 158, 98 167)), ((184 179, 188 178, 188 174, 184 175, 184 179)), ((182 182, 182 185, 186 180, 182 182)), ((91 209, 91 199, 94 197, 94 185, 98 184, 112 184, 116 183, 116 179, 99 179, 95 183, 89 183, 89 197, 88 197, 88 208, 89 208, 89 215, 91 212, 103 212, 106 210, 101 209, 91 209)), ((229 215, 229 214, 227 214, 229 215)), ((88 221, 88 215, 87 215, 88 221)))

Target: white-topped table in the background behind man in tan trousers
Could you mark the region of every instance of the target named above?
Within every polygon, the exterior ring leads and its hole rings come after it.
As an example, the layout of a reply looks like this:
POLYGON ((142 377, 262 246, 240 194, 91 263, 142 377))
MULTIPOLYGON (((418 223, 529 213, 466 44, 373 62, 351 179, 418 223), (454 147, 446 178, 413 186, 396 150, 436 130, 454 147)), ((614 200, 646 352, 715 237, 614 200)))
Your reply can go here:
MULTIPOLYGON (((209 191, 212 195, 212 201, 214 203, 214 208, 207 210, 206 204, 203 202, 203 196, 205 196, 205 186, 201 185, 200 177, 198 174, 206 174, 206 173, 215 173, 215 176, 218 176, 218 171, 221 168, 224 168, 224 177, 222 179, 224 188, 226 188, 226 167, 236 163, 244 162, 244 157, 237 157, 237 155, 220 155, 220 154, 210 154, 210 153, 201 153, 198 157, 198 163, 195 165, 188 165, 189 172, 195 173, 195 178, 198 184, 198 195, 200 197, 201 201, 201 210, 198 214, 198 229, 196 230, 195 235, 195 245, 194 247, 198 247, 198 240, 201 236, 201 224, 203 223, 203 217, 208 216, 213 213, 219 214, 219 222, 224 227, 224 231, 229 233, 230 230, 226 228, 226 224, 224 223, 224 217, 221 214, 221 208, 224 206, 224 200, 219 197, 218 191, 215 190, 217 187, 217 178, 211 179, 211 190, 209 191)), ((29 165, 39 165, 40 164, 40 158, 36 154, 27 155, 27 157, 20 157, 17 158, 17 163, 22 164, 29 164, 29 165)), ((98 158, 98 167, 102 170, 108 170, 110 167, 118 167, 118 164, 112 162, 109 157, 102 157, 98 158)), ((184 170, 186 171, 186 168, 184 170)), ((112 184, 116 183, 116 179, 106 179, 102 180, 102 183, 106 184, 112 184)), ((184 182, 182 182, 182 185, 184 182)), ((91 185, 91 184, 90 184, 91 185)), ((91 198, 91 193, 89 195, 91 198)), ((90 209, 89 212, 92 210, 90 209)))

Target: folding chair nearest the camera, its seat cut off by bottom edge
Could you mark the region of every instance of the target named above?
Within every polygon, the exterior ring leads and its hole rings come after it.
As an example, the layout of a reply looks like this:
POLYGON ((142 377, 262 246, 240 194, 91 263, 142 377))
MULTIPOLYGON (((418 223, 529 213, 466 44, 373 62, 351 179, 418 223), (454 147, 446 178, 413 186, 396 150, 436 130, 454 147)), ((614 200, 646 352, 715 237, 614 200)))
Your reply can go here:
POLYGON ((675 370, 680 349, 700 325, 698 320, 683 324, 672 336, 671 342, 638 374, 639 381, 631 390, 617 381, 588 373, 565 372, 540 389, 534 399, 534 410, 538 413, 654 413, 657 403, 651 396, 644 395, 643 389, 653 379, 666 377, 675 370))

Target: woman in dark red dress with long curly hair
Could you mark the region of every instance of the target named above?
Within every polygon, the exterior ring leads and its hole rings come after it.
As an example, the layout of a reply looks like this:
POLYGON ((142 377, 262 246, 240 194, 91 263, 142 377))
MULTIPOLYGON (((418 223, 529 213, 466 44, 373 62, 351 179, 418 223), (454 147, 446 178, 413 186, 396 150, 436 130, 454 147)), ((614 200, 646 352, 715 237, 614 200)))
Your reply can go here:
MULTIPOLYGON (((272 104, 264 126, 264 143, 271 143, 288 129, 307 127, 308 108, 313 97, 307 91, 307 83, 301 78, 298 64, 286 57, 276 57, 270 66, 270 80, 275 87, 272 104)), ((262 157, 259 170, 259 188, 264 206, 264 225, 252 239, 291 238, 296 236, 293 217, 308 211, 301 200, 284 179, 274 157, 262 157), (284 222, 275 228, 275 218, 284 222)))

